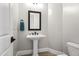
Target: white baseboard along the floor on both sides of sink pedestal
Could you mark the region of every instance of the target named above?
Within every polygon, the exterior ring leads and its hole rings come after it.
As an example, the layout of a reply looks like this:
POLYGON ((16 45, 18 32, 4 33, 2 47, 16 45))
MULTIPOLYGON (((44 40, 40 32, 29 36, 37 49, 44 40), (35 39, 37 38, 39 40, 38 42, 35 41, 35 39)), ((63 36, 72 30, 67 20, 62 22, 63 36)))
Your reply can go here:
MULTIPOLYGON (((45 52, 45 51, 49 51, 50 53, 59 55, 62 54, 63 52, 51 49, 51 48, 41 48, 38 50, 39 52, 45 52)), ((18 51, 16 56, 21 56, 21 55, 25 55, 25 54, 32 54, 32 50, 23 50, 23 51, 18 51)))

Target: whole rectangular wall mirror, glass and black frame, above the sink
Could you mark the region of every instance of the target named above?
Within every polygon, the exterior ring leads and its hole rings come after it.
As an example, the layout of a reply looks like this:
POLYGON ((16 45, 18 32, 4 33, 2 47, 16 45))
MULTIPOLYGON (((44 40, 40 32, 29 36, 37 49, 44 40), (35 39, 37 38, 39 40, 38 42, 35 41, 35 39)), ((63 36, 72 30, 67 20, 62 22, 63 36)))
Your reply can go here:
POLYGON ((41 30, 41 12, 28 11, 28 30, 41 30))

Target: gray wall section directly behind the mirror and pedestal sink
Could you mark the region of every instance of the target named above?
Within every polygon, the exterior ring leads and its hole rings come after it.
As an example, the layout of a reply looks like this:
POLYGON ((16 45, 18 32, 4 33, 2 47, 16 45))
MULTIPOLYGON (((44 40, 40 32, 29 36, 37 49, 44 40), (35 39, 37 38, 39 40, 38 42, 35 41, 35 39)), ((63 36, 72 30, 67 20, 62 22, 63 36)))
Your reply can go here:
POLYGON ((45 39, 41 39, 39 40, 39 48, 47 48, 48 47, 48 5, 47 4, 43 4, 43 8, 33 8, 30 7, 26 4, 19 4, 19 21, 20 19, 24 20, 25 23, 25 30, 22 32, 19 30, 18 28, 18 51, 19 50, 28 50, 28 49, 32 49, 32 41, 28 40, 26 38, 26 36, 29 34, 29 32, 32 31, 28 31, 28 10, 36 10, 36 11, 41 11, 42 13, 42 30, 41 31, 37 31, 39 33, 43 33, 45 34, 47 37, 45 39))

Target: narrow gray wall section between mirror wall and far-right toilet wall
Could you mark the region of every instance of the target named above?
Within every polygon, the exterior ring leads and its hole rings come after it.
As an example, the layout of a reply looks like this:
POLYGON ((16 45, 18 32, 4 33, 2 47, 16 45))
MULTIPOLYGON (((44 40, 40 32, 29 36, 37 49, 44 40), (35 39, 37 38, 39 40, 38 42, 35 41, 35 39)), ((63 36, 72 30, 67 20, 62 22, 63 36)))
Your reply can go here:
POLYGON ((49 48, 62 51, 62 4, 48 4, 49 48))

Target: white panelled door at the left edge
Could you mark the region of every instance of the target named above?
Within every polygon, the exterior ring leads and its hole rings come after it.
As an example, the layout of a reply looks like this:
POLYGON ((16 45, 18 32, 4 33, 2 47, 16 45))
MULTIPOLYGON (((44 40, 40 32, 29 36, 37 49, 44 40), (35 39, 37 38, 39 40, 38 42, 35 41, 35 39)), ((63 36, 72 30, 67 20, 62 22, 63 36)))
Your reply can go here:
MULTIPOLYGON (((0 55, 2 55, 10 47, 10 38, 9 3, 0 3, 0 55)), ((9 53, 9 55, 10 54, 12 55, 12 53, 9 53)))

